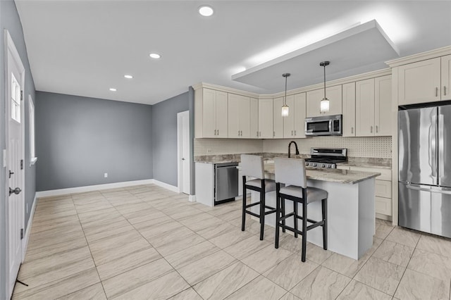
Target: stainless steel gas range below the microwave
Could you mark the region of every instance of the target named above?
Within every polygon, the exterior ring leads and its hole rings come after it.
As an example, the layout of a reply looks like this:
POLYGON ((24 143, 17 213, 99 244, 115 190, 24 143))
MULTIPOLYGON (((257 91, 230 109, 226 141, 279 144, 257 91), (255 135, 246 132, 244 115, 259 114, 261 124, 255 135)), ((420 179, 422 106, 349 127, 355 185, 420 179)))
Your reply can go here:
POLYGON ((311 148, 311 158, 305 159, 306 167, 313 168, 337 168, 337 163, 347 161, 346 149, 311 148))

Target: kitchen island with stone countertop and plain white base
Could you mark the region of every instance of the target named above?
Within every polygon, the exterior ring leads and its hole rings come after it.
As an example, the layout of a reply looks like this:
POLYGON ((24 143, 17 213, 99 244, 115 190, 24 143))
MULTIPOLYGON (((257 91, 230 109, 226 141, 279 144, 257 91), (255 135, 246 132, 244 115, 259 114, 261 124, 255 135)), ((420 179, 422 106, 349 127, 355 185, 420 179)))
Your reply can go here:
MULTIPOLYGON (((264 168, 265 176, 273 179, 274 164, 265 163, 264 168)), ((310 168, 306 173, 309 187, 328 192, 328 249, 350 258, 361 258, 373 245, 374 182, 380 173, 310 168)), ((258 193, 251 194, 252 202, 259 201, 258 193)), ((276 207, 275 191, 266 193, 266 204, 276 207)), ((257 212, 259 208, 254 206, 253 209, 257 212)), ((292 201, 285 200, 285 211, 292 211, 292 201)), ((301 207, 299 211, 302 211, 301 207)), ((321 201, 309 204, 308 216, 312 220, 321 220, 321 201)), ((276 215, 266 215, 265 223, 275 227, 276 215)), ((287 220, 287 225, 293 225, 292 219, 287 220)), ((321 227, 309 230, 307 241, 322 247, 321 227)))

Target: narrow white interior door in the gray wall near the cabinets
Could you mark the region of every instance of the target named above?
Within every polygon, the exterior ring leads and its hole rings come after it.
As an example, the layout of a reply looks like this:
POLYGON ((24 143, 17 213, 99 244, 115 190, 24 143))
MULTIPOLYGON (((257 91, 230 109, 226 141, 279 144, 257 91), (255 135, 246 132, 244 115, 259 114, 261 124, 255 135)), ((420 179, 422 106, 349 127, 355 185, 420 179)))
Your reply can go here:
POLYGON ((190 111, 177 114, 178 191, 190 194, 190 111))

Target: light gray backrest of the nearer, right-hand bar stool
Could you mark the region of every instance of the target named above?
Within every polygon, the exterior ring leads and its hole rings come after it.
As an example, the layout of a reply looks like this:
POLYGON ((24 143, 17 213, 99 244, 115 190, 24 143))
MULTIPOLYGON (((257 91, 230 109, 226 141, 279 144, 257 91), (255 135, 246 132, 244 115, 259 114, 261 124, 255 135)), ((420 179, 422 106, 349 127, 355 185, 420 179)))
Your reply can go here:
POLYGON ((307 187, 305 175, 305 161, 302 158, 274 158, 276 182, 297 187, 307 187))

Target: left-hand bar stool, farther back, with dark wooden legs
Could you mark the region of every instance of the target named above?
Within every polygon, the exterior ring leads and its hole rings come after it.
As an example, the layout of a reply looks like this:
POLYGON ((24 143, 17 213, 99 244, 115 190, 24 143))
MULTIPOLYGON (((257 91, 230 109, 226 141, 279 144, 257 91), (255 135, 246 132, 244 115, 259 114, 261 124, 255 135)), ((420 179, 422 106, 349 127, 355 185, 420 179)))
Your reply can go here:
POLYGON ((276 189, 274 180, 264 177, 263 157, 257 155, 241 154, 241 170, 242 170, 242 223, 241 230, 245 231, 246 213, 254 215, 260 219, 260 240, 263 240, 265 215, 276 213, 276 208, 266 205, 266 193, 276 189), (254 177, 254 180, 246 180, 246 176, 254 177), (260 193, 260 201, 252 204, 246 204, 246 190, 260 193), (260 206, 260 212, 254 213, 248 211, 247 208, 252 206, 260 206), (266 211, 266 208, 269 211, 266 211))

